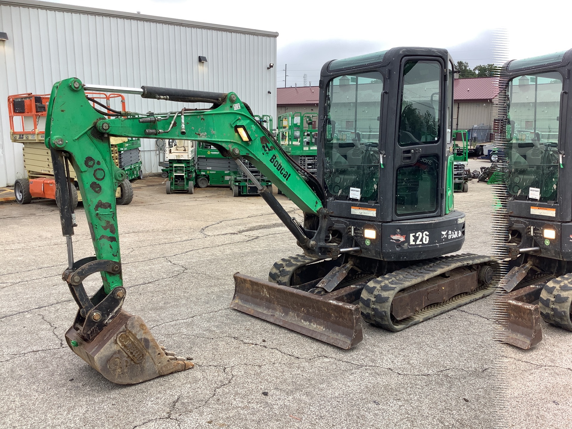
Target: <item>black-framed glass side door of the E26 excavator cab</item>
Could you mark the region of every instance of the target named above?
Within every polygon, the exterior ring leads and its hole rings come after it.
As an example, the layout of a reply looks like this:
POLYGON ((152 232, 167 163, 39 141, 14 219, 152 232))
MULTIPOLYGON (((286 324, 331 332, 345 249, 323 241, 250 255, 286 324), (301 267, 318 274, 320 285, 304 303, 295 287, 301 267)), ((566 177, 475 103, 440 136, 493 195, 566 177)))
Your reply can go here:
POLYGON ((405 57, 400 65, 394 220, 442 214, 447 163, 447 82, 443 70, 443 59, 438 57, 405 57))

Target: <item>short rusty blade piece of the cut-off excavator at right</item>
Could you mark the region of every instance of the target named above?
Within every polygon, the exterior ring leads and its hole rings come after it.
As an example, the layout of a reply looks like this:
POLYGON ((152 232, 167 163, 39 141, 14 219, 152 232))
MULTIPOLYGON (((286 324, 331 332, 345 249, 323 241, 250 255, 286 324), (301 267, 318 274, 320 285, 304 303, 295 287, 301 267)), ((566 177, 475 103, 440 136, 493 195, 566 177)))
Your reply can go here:
POLYGON ((507 332, 502 341, 529 349, 542 340, 542 327, 538 298, 543 285, 526 286, 507 293, 503 300, 507 309, 507 332))

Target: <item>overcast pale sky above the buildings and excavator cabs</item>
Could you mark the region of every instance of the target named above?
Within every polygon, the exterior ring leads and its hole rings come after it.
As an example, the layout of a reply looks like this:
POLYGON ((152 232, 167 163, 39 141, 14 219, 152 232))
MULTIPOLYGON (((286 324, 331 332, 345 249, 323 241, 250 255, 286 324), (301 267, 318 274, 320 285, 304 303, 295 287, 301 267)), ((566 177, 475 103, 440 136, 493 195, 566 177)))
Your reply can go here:
POLYGON ((288 86, 303 85, 304 74, 307 84, 316 85, 324 62, 394 46, 445 47, 455 61, 467 61, 472 67, 572 47, 568 30, 570 0, 57 2, 276 31, 280 33, 275 65, 277 86, 284 86, 285 64, 288 86), (499 43, 499 33, 505 34, 508 43, 499 43))

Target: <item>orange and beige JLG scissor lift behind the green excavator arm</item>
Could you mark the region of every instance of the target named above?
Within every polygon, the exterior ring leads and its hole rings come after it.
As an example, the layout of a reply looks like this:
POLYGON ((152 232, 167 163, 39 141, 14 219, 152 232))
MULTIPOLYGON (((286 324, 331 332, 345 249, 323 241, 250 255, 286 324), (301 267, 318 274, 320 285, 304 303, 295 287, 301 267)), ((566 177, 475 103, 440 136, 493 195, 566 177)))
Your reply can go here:
MULTIPOLYGON (((113 99, 120 99, 121 110, 125 111, 125 97, 122 94, 86 92, 90 98, 105 101, 109 108, 113 99)), ((26 178, 14 183, 14 195, 19 204, 28 204, 32 198, 50 198, 55 200, 54 170, 50 150, 44 144, 47 104, 50 94, 15 94, 8 97, 10 116, 10 140, 23 144, 24 168, 26 178)), ((95 103, 92 102, 95 106, 95 103)), ((101 106, 101 105, 100 105, 101 106)), ((108 110, 110 112, 110 110, 108 110)), ((127 139, 111 138, 113 144, 121 144, 127 139)), ((117 163, 116 157, 114 160, 117 163)), ((73 180, 72 203, 77 206, 81 195, 77 192, 77 177, 70 165, 70 178, 73 180), (73 192, 75 190, 75 192, 73 192)), ((129 204, 133 199, 133 189, 129 180, 121 182, 117 188, 118 204, 129 204)))

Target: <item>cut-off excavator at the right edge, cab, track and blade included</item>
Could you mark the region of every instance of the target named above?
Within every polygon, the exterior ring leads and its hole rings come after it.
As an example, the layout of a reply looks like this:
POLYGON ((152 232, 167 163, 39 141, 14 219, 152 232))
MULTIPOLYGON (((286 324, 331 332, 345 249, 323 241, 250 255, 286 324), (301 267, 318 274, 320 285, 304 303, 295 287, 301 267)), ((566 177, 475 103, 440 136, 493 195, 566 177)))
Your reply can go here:
POLYGON ((501 71, 501 125, 510 271, 507 343, 530 348, 541 318, 572 331, 572 49, 507 62, 501 71))

